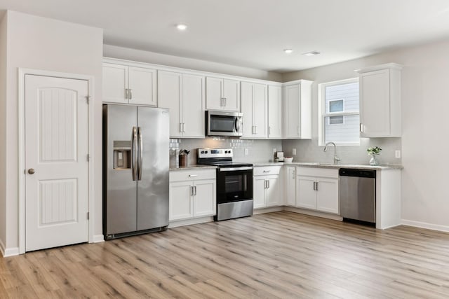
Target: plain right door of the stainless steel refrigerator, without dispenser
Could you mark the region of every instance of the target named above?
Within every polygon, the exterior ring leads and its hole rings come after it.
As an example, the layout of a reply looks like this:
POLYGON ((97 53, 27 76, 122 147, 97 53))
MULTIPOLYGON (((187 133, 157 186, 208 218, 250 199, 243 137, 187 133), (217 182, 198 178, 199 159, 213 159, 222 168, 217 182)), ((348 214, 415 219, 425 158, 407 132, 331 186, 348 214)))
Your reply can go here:
POLYGON ((138 230, 168 225, 168 109, 138 107, 138 230))

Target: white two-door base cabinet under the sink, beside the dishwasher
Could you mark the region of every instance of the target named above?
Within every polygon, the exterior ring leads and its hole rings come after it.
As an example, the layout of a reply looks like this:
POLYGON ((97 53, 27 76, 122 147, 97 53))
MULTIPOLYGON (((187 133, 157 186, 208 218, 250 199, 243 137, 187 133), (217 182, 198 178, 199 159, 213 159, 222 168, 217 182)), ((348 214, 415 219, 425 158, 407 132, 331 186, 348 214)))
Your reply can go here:
POLYGON ((339 214, 338 169, 297 167, 296 206, 339 214))

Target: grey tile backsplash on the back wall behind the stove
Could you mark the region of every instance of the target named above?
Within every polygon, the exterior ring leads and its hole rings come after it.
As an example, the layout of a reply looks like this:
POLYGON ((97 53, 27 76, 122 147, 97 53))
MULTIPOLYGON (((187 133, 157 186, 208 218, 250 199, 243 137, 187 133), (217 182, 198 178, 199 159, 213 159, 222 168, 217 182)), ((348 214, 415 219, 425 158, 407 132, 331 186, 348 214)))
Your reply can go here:
POLYGON ((273 149, 282 151, 281 140, 239 139, 232 137, 206 137, 205 139, 170 139, 170 168, 179 166, 178 154, 190 151, 188 165, 196 164, 198 148, 232 148, 236 162, 268 162, 273 160, 273 149), (248 155, 245 155, 248 149, 248 155))

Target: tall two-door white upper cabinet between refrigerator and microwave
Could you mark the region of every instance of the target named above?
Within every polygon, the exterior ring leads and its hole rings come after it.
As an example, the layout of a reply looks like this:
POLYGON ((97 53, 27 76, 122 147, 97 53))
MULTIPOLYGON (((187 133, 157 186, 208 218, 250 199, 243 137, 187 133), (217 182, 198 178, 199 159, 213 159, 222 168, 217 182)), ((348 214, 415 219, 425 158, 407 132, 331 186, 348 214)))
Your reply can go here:
POLYGON ((159 107, 170 109, 170 137, 204 138, 204 77, 158 71, 159 107))

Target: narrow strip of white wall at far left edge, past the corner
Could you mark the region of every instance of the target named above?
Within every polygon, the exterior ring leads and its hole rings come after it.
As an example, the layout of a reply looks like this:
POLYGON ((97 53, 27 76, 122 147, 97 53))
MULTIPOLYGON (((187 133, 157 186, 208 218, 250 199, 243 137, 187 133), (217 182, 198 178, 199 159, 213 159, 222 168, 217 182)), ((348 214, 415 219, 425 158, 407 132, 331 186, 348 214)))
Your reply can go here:
MULTIPOLYGON (((6 165, 6 14, 0 20, 0 165, 6 165)), ((6 242, 6 167, 0 167, 0 250, 6 242)))

